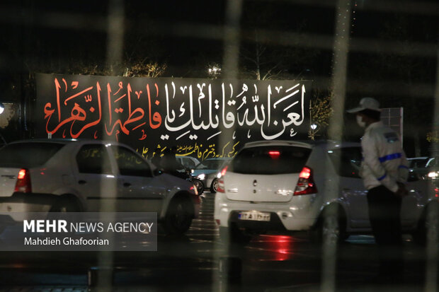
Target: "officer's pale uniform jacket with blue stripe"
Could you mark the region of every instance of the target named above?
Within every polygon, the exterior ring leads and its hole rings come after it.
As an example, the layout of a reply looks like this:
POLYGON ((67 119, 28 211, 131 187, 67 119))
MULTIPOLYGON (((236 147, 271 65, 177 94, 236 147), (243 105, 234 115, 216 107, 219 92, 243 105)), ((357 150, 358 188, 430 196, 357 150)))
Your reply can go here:
POLYGON ((409 175, 406 154, 399 135, 382 122, 370 124, 361 141, 363 162, 360 176, 365 187, 372 189, 384 185, 397 192, 397 182, 405 183, 409 175))

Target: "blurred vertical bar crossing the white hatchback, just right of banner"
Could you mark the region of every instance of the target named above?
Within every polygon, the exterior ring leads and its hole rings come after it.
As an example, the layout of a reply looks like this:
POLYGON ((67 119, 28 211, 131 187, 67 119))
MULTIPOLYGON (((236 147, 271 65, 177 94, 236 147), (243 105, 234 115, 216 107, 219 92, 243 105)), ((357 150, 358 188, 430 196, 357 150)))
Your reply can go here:
MULTIPOLYGON (((333 108, 336 109, 329 122, 329 139, 341 141, 343 138, 343 115, 346 98, 346 78, 348 70, 348 50, 349 50, 349 31, 350 31, 350 0, 338 0, 336 4, 336 28, 333 45, 333 65, 331 89, 333 90, 333 108)), ((339 163, 336 163, 337 165, 339 163)), ((330 170, 326 170, 329 173, 330 170)), ((325 189, 329 189, 328 200, 331 197, 338 197, 338 182, 326 181, 325 189)), ((331 212, 326 212, 331 214, 331 212)), ((328 233, 324 233, 322 252, 322 276, 321 291, 335 291, 336 278, 336 255, 337 238, 333 238, 338 222, 330 221, 330 217, 324 218, 324 226, 329 228, 328 233)))

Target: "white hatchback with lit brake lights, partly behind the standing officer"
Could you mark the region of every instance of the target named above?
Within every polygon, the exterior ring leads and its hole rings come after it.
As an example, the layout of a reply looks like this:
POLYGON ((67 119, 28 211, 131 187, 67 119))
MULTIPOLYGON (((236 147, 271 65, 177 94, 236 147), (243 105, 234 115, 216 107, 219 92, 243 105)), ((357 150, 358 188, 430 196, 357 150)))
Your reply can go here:
MULTIPOLYGON (((320 239, 331 233, 341 240, 350 233, 370 233, 367 190, 358 175, 361 159, 355 143, 246 144, 222 170, 215 197, 220 235, 236 240, 252 233, 311 230, 320 239)), ((434 191, 428 196, 425 181, 408 186, 401 223, 421 241, 427 206, 437 206, 438 198, 434 191)))

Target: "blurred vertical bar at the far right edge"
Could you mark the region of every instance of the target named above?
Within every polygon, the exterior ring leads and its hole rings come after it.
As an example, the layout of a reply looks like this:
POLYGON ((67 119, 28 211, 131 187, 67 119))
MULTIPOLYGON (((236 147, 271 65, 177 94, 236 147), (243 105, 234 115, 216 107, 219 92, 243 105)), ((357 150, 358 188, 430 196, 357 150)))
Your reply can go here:
MULTIPOLYGON (((436 83, 434 96, 434 115, 433 115, 433 131, 439 128, 439 49, 436 57, 436 83)), ((433 139, 431 143, 431 156, 439 159, 439 143, 433 139)), ((436 186, 437 187, 437 186, 436 186)), ((429 197, 435 198, 433 188, 430 189, 429 197)), ((433 208, 428 208, 426 216, 427 224, 427 246, 426 246, 426 286, 425 291, 438 291, 438 220, 439 207, 435 202, 431 203, 433 208)))

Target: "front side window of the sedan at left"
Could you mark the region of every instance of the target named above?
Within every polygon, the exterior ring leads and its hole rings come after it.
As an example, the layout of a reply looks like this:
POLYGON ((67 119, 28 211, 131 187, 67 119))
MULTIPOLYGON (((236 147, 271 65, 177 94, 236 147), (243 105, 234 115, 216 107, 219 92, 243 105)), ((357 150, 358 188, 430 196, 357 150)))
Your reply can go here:
POLYGON ((122 146, 111 146, 111 149, 116 163, 118 163, 120 175, 152 177, 149 164, 140 158, 137 153, 122 146))

